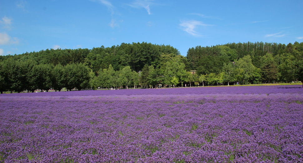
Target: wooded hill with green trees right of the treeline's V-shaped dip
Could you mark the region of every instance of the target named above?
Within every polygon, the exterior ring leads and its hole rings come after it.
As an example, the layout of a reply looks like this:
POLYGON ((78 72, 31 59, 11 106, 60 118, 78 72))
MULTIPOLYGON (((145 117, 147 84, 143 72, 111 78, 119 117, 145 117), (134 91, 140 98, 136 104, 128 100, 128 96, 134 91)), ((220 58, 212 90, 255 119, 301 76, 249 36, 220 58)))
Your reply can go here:
POLYGON ((197 70, 199 75, 216 75, 219 83, 218 75, 224 73, 228 75, 223 77, 226 81, 260 84, 302 81, 302 56, 302 42, 247 42, 196 46, 188 50, 186 58, 191 70, 197 70))

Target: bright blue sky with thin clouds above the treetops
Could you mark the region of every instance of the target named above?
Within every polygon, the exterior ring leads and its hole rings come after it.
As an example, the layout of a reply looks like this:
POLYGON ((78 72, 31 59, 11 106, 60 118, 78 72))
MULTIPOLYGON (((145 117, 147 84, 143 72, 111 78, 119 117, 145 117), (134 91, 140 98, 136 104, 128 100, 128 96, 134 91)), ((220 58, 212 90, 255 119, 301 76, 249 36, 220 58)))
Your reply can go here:
POLYGON ((303 42, 303 1, 10 0, 0 55, 150 42, 181 55, 228 42, 303 42))

